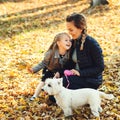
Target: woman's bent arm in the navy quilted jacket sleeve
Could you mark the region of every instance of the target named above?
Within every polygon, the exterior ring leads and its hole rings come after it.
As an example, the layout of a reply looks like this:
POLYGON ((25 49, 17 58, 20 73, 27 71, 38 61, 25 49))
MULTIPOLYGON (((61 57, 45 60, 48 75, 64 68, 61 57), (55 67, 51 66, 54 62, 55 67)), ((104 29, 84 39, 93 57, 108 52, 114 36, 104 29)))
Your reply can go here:
POLYGON ((91 56, 93 65, 91 67, 84 68, 79 71, 80 76, 83 76, 83 77, 99 75, 104 70, 104 60, 103 60, 101 47, 95 40, 92 40, 91 42, 89 42, 89 46, 90 46, 89 54, 91 56))

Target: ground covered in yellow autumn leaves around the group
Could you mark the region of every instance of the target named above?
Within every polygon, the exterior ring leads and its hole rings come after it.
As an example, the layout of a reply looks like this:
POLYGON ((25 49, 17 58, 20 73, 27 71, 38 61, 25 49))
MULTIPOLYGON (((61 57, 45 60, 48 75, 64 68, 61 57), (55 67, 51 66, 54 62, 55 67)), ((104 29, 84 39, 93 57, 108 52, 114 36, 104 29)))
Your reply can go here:
MULTIPOLYGON (((62 110, 47 96, 34 102, 41 71, 29 74, 57 32, 66 31, 65 18, 84 13, 88 33, 100 43, 105 60, 101 91, 113 93, 102 101, 101 120, 120 120, 120 1, 89 9, 88 0, 0 0, 0 119, 62 120, 62 110)), ((74 110, 73 120, 95 120, 88 106, 74 110)))

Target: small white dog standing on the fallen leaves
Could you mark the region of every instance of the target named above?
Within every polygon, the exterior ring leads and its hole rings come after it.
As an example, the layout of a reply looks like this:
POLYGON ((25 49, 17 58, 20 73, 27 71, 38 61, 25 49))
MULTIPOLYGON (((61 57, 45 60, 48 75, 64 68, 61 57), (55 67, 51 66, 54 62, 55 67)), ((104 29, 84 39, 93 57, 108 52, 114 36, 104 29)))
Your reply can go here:
POLYGON ((48 78, 42 88, 49 95, 54 95, 56 103, 63 109, 65 117, 72 115, 72 109, 89 104, 94 116, 102 112, 101 98, 113 99, 112 94, 105 94, 91 88, 70 90, 63 87, 62 78, 48 78))

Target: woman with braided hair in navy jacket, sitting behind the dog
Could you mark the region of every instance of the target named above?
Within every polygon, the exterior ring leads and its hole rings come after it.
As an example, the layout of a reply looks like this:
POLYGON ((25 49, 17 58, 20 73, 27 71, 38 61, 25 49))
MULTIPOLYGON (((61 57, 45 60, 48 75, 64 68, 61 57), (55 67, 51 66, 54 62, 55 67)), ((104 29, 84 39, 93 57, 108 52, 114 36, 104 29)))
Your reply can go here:
POLYGON ((66 18, 66 26, 72 36, 71 59, 74 69, 71 76, 63 78, 63 85, 69 89, 93 88, 102 84, 104 61, 98 42, 87 35, 86 19, 83 15, 73 13, 66 18))

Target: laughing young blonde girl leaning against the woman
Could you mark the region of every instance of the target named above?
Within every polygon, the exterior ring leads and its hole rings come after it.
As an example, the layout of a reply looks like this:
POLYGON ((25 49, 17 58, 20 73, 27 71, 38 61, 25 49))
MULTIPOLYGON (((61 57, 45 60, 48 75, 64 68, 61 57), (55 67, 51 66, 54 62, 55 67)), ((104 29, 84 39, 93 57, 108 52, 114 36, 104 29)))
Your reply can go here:
POLYGON ((28 69, 31 73, 36 73, 43 69, 42 80, 38 84, 34 95, 30 98, 31 101, 40 94, 46 78, 63 76, 63 71, 67 68, 71 45, 71 38, 67 33, 62 32, 57 34, 42 62, 28 69))

